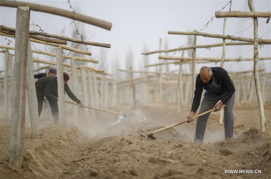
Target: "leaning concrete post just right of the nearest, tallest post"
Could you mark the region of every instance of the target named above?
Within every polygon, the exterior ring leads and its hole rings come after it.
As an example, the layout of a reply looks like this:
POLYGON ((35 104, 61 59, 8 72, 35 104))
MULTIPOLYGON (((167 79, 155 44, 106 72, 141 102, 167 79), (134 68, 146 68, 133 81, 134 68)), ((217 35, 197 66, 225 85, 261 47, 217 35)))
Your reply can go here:
POLYGON ((28 42, 27 50, 27 64, 26 64, 26 89, 27 89, 27 99, 29 106, 30 123, 32 130, 32 137, 39 137, 39 111, 38 111, 38 100, 36 94, 36 86, 33 72, 33 62, 30 41, 28 42))

